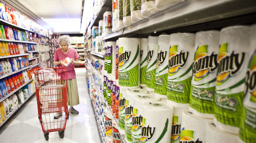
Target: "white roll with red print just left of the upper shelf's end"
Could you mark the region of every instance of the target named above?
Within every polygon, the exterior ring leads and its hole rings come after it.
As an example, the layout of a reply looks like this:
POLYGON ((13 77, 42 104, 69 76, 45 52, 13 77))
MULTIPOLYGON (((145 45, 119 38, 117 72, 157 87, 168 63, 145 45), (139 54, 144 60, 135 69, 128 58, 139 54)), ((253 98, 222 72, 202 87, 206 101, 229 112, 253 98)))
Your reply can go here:
POLYGON ((112 33, 112 11, 106 11, 103 14, 103 33, 112 33))

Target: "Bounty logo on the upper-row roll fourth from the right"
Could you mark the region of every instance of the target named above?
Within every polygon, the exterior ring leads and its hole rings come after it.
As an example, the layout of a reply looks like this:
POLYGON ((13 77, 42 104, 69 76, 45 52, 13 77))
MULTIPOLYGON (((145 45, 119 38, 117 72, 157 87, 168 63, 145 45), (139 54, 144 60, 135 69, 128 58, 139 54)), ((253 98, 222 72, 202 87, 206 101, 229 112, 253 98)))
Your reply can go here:
POLYGON ((168 59, 168 76, 173 76, 182 69, 188 59, 189 52, 178 53, 178 45, 170 46, 168 59))

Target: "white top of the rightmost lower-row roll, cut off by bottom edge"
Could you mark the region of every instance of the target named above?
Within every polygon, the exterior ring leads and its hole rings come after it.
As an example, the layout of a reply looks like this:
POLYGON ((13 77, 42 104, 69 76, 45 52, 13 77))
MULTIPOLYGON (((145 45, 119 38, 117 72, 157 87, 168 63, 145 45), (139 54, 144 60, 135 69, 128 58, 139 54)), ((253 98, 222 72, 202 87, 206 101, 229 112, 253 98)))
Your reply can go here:
POLYGON ((238 143, 238 135, 218 129, 213 122, 206 124, 206 143, 238 143))

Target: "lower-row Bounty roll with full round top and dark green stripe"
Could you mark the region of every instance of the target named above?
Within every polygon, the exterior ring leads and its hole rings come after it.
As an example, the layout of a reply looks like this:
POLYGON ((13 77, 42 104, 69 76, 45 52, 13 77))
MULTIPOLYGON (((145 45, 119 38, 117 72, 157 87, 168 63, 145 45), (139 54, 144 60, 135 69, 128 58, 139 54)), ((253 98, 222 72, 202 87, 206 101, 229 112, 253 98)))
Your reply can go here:
POLYGON ((144 103, 141 142, 171 142, 173 107, 165 102, 144 103))

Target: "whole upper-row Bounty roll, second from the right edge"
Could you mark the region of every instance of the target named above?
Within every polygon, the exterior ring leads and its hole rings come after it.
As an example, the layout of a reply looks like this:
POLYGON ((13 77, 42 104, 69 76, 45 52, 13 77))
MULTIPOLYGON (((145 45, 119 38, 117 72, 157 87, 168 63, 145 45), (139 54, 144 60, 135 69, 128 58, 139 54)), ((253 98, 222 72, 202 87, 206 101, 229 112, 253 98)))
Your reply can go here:
POLYGON ((239 132, 243 111, 249 36, 250 27, 239 25, 223 28, 220 34, 214 124, 233 134, 239 132))

